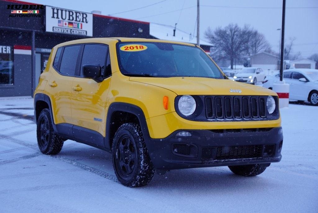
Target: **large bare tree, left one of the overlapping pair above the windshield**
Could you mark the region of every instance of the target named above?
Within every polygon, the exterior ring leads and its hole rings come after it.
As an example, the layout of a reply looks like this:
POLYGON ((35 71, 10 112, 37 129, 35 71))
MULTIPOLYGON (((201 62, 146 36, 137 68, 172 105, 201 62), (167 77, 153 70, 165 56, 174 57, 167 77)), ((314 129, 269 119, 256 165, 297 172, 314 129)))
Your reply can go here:
POLYGON ((237 24, 229 24, 224 28, 217 27, 214 31, 209 27, 205 31, 205 37, 215 45, 212 48, 212 57, 216 60, 229 59, 233 69, 234 60, 241 59, 245 51, 248 30, 248 26, 240 28, 237 24))

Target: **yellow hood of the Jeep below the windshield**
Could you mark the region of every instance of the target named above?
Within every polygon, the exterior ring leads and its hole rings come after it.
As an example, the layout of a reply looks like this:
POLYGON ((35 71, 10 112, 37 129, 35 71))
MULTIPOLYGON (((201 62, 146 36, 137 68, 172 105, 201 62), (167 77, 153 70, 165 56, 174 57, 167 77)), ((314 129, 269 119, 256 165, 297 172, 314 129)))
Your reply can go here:
POLYGON ((277 95, 264 87, 204 77, 129 77, 130 81, 168 89, 177 95, 277 95), (241 92, 233 92, 240 90, 241 92), (232 91, 232 92, 230 92, 232 91))

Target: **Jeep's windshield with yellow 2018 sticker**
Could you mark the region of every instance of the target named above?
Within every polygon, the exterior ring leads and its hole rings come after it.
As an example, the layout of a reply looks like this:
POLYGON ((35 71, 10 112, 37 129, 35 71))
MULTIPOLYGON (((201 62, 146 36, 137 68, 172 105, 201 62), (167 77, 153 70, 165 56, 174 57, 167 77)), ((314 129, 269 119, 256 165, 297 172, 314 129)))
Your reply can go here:
POLYGON ((121 73, 145 77, 210 77, 224 79, 201 49, 163 42, 125 42, 117 47, 121 73))

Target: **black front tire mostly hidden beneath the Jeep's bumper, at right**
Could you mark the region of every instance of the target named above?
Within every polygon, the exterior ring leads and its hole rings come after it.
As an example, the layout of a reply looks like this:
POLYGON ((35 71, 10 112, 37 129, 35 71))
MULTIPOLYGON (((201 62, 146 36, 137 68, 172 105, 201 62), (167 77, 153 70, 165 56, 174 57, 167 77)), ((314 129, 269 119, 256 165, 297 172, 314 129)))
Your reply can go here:
POLYGON ((266 166, 261 164, 241 165, 241 166, 229 166, 230 170, 237 175, 245 177, 253 177, 263 173, 266 166))

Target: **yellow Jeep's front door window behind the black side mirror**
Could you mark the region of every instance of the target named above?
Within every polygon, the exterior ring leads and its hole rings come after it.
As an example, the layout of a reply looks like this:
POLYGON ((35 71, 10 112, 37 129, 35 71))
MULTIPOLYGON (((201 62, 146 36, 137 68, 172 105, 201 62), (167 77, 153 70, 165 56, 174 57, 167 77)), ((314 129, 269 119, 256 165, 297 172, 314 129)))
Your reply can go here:
POLYGON ((101 76, 105 76, 106 56, 108 54, 108 47, 100 44, 86 44, 84 47, 81 72, 80 76, 83 76, 83 65, 97 65, 101 68, 101 76))

